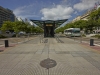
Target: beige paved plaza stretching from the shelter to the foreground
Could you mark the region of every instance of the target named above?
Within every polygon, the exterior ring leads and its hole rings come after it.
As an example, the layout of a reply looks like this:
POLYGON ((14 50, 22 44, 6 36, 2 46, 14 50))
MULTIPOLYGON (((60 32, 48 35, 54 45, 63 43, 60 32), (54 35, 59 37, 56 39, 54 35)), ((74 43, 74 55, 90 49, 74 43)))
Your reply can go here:
POLYGON ((100 54, 69 38, 33 37, 0 52, 0 75, 100 75, 100 54))

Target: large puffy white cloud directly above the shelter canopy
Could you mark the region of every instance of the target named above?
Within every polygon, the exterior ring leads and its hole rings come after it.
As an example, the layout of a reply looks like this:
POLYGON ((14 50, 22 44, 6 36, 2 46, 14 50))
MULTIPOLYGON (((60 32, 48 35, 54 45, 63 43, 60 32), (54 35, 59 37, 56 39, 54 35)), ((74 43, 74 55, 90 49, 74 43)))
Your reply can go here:
POLYGON ((66 7, 62 5, 57 5, 54 8, 43 8, 41 12, 43 20, 57 20, 57 19, 69 19, 71 14, 73 13, 73 9, 71 7, 66 7))

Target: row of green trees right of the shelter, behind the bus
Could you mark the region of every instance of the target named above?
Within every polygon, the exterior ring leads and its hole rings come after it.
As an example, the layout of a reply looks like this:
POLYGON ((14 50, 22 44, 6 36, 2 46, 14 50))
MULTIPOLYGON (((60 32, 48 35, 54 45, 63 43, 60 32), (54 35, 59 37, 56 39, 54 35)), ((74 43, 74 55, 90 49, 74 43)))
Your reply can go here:
POLYGON ((60 27, 56 29, 56 33, 63 32, 67 28, 80 28, 81 30, 85 30, 85 33, 92 33, 94 28, 100 27, 100 8, 90 13, 89 19, 86 20, 78 20, 74 23, 68 23, 64 27, 60 27))

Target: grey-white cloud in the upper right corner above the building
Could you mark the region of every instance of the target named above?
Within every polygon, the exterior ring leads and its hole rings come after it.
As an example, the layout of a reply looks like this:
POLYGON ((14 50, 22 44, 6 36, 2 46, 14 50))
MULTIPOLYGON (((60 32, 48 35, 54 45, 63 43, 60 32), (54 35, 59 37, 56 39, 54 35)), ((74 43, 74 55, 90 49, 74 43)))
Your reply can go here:
POLYGON ((79 11, 93 8, 95 3, 100 0, 81 0, 80 3, 75 4, 73 7, 79 11))

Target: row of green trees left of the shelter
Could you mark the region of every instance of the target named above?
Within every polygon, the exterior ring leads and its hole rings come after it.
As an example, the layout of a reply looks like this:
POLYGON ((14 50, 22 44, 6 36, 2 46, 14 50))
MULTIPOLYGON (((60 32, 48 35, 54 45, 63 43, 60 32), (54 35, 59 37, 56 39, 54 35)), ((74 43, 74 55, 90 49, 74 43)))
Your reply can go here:
POLYGON ((26 33, 43 33, 43 29, 40 27, 34 27, 31 26, 29 23, 24 23, 21 21, 16 21, 16 22, 10 22, 10 21, 5 21, 0 28, 2 31, 14 31, 16 35, 20 32, 26 32, 26 33))

